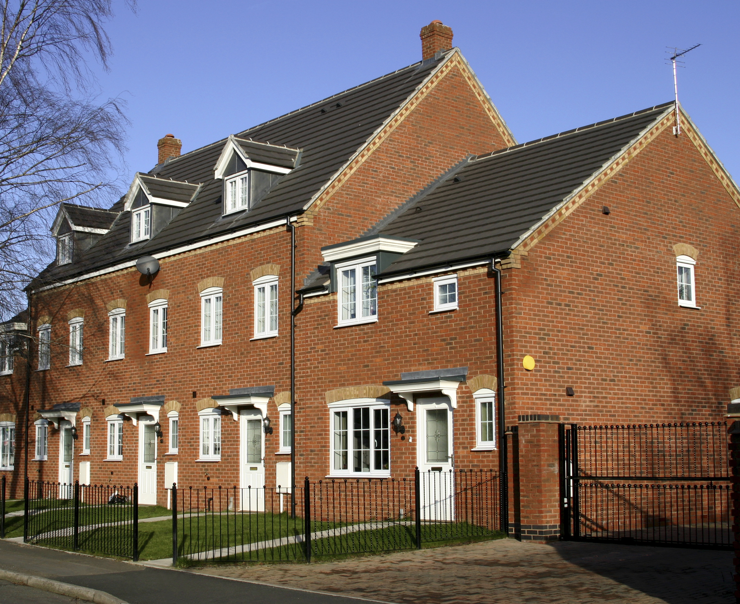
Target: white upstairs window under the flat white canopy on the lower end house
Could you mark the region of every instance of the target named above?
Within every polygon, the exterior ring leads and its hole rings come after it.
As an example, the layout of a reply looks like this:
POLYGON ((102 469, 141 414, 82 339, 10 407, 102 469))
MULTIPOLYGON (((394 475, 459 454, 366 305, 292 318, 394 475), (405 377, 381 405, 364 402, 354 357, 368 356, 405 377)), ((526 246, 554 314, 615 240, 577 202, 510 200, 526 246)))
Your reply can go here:
POLYGON ((374 258, 337 265, 339 325, 377 321, 374 258))

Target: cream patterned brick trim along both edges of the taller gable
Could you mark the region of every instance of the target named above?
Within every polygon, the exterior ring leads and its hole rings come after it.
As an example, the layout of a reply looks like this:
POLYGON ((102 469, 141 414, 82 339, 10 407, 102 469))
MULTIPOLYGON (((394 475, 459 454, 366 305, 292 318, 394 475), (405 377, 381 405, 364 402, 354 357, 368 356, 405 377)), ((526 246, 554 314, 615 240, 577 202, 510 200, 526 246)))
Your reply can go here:
MULTIPOLYGON (((397 111, 393 115, 391 115, 390 118, 388 118, 388 121, 386 121, 383 129, 380 130, 380 132, 378 132, 377 135, 369 140, 369 142, 366 143, 362 148, 360 148, 352 157, 350 157, 349 161, 334 174, 332 180, 329 180, 329 183, 324 185, 322 189, 317 192, 317 194, 314 194, 309 203, 306 203, 306 206, 303 206, 303 209, 308 210, 310 208, 315 213, 321 206, 329 201, 334 193, 336 193, 342 187, 342 185, 346 183, 349 177, 351 177, 354 172, 357 172, 357 169, 359 169, 360 166, 365 163, 365 160, 367 160, 367 158, 372 155, 375 149, 383 144, 383 142, 394 132, 394 130, 398 126, 400 126, 401 123, 403 123, 408 114, 414 111, 414 109, 419 106, 419 104, 435 88, 435 86, 437 86, 437 84, 439 84, 440 81, 445 78, 445 75, 447 75, 449 72, 452 71, 452 69, 455 68, 460 69, 460 73, 463 75, 465 80, 467 80, 468 83, 473 86, 474 94, 477 95, 483 106, 486 108, 486 112, 488 112, 488 115, 494 121, 494 126, 496 126, 497 130, 499 130, 502 138, 504 140, 510 141, 508 146, 513 146, 517 144, 514 138, 511 136, 508 127, 505 126, 502 119, 498 116, 498 113, 495 112, 494 107, 491 105, 491 101, 487 98, 484 98, 484 93, 482 92, 482 89, 480 89, 480 84, 474 84, 474 81, 476 79, 475 75, 471 72, 468 64, 460 56, 460 52, 455 49, 454 52, 444 62, 442 67, 440 67, 438 71, 431 78, 428 79, 426 84, 418 89, 416 94, 411 99, 409 99, 406 104, 400 107, 400 109, 397 109, 397 111)), ((301 218, 302 217, 298 217, 299 224, 301 224, 301 218)), ((310 223, 313 223, 313 220, 309 219, 309 217, 306 217, 303 220, 310 220, 310 223)))

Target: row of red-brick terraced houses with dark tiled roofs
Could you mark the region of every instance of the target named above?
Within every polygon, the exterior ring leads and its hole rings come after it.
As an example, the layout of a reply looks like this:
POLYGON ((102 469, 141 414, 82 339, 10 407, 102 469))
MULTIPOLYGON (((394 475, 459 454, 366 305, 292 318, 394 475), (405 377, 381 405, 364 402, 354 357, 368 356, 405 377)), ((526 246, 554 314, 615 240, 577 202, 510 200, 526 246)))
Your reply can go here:
POLYGON ((690 118, 517 144, 451 29, 422 41, 212 145, 167 135, 108 210, 61 205, 27 419, 6 324, 16 493, 26 426, 31 478, 137 481, 144 504, 506 458, 506 520, 548 540, 559 424, 722 421, 740 192, 690 118))

